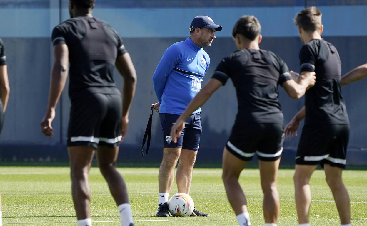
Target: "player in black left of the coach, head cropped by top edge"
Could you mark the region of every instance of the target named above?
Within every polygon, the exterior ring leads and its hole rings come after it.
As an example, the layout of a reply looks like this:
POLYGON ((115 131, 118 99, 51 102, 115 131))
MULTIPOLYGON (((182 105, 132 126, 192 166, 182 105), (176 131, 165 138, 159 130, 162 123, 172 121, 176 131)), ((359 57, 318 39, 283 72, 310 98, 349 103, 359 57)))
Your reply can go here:
POLYGON ((54 133, 51 123, 69 69, 68 153, 77 225, 91 225, 88 174, 97 152, 98 166, 118 206, 121 226, 131 226, 131 206, 125 182, 116 170, 116 159, 119 143, 126 135, 136 73, 121 37, 108 23, 92 16, 93 8, 94 0, 70 0, 71 19, 52 31, 54 66, 41 129, 46 136, 54 133), (115 66, 124 78, 122 100, 113 81, 115 66))

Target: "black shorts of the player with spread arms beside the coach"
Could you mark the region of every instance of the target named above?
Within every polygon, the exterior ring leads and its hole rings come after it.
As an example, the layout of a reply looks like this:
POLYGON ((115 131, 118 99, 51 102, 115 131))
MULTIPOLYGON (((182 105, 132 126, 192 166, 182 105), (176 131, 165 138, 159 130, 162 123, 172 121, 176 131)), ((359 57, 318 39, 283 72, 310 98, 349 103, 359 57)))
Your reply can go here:
POLYGON ((275 161, 283 151, 284 126, 279 123, 235 125, 226 148, 243 161, 257 154, 259 160, 275 161))

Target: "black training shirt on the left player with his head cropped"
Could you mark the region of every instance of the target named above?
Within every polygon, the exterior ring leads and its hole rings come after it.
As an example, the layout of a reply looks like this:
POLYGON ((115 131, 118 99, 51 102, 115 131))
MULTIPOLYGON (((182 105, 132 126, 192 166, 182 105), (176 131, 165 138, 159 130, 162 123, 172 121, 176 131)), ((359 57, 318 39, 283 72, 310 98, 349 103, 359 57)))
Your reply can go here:
POLYGON ((71 18, 54 28, 52 44, 68 45, 70 99, 84 93, 120 93, 113 70, 117 56, 126 49, 107 22, 86 16, 71 18))

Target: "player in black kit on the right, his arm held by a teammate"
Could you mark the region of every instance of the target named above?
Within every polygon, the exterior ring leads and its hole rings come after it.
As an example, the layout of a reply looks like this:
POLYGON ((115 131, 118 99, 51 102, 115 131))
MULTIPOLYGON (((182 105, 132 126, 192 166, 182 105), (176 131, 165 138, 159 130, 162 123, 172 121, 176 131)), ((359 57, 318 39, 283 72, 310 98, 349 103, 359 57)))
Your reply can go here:
POLYGON ((348 191, 342 181, 349 141, 349 119, 341 94, 341 61, 337 49, 321 38, 321 12, 310 7, 300 11, 295 24, 304 43, 299 52, 301 75, 316 73, 315 86, 305 94, 305 107, 286 126, 286 136, 296 136, 299 121, 305 125, 299 140, 294 174, 299 224, 309 225, 309 179, 321 164, 333 193, 342 225, 350 225, 348 191))

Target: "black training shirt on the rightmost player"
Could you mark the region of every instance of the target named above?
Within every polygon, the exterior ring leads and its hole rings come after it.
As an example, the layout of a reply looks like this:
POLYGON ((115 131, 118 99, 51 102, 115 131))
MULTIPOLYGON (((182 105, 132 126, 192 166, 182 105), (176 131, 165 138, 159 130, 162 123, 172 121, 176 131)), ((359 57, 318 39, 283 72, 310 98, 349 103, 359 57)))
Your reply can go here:
POLYGON ((313 39, 299 52, 301 72, 315 71, 315 86, 306 91, 305 125, 349 124, 341 93, 341 61, 337 49, 325 40, 313 39))

